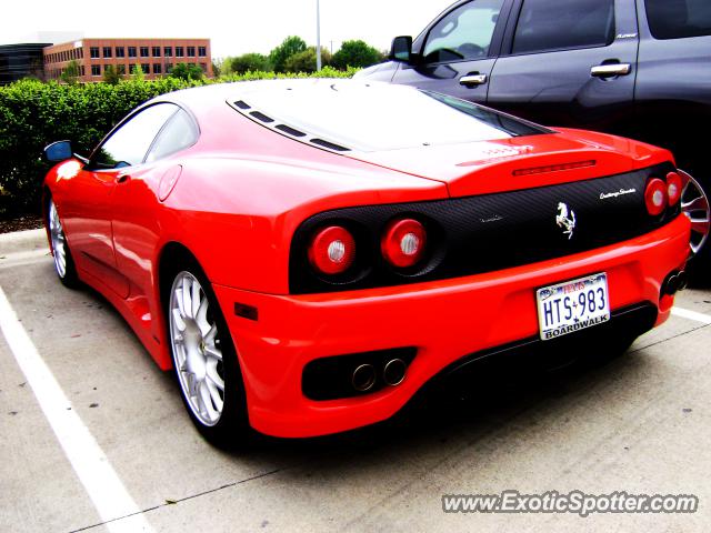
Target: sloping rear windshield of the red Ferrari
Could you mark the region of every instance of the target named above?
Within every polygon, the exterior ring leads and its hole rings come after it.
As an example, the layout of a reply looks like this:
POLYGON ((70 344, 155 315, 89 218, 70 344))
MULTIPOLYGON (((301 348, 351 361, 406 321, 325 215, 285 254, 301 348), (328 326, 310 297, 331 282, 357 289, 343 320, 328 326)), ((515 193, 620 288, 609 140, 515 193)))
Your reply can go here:
POLYGON ((334 80, 280 86, 250 90, 232 102, 233 107, 268 128, 293 133, 291 137, 301 142, 326 148, 331 143, 339 151, 398 150, 550 133, 464 100, 404 86, 334 80))

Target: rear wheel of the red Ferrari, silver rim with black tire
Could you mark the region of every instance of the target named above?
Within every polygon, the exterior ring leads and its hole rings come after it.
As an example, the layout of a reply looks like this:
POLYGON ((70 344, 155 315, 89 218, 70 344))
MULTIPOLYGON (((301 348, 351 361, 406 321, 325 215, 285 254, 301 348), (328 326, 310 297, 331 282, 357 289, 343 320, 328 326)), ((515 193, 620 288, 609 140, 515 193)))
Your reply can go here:
POLYGON ((230 444, 246 420, 243 389, 227 325, 199 269, 173 278, 168 324, 176 375, 193 422, 216 444, 230 444))

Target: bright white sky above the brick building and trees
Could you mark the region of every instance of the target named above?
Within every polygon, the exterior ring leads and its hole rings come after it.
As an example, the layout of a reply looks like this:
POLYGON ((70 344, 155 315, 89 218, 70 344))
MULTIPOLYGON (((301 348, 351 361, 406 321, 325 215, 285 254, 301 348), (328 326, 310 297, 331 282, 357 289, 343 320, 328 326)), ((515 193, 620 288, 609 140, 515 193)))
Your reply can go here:
MULTIPOLYGON (((415 36, 454 0, 320 0, 321 44, 363 39, 390 48, 415 36)), ((199 37, 216 58, 267 53, 297 34, 316 44, 317 0, 21 0, 3 1, 0 44, 77 37, 199 37)))

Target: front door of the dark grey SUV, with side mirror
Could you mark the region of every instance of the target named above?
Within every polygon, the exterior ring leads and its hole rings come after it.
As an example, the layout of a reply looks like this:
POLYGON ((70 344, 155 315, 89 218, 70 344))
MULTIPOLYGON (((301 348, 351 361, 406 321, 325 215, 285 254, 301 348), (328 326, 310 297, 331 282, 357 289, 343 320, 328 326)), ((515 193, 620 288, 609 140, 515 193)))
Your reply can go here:
POLYGON ((392 82, 485 102, 511 3, 471 0, 453 6, 415 40, 412 62, 400 66, 392 82))

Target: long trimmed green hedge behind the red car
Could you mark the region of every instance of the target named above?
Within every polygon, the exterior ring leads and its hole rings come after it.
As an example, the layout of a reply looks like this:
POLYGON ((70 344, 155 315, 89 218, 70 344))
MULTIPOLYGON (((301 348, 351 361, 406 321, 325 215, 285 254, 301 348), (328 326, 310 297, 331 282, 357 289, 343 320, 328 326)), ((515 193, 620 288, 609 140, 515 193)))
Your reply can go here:
MULTIPOLYGON (((326 68, 313 76, 346 78, 354 72, 326 68)), ((77 153, 89 154, 119 120, 159 94, 213 82, 306 76, 248 72, 216 81, 167 77, 117 84, 22 80, 0 87, 0 218, 40 211, 41 183, 50 168, 42 150, 52 141, 68 139, 77 153)))

